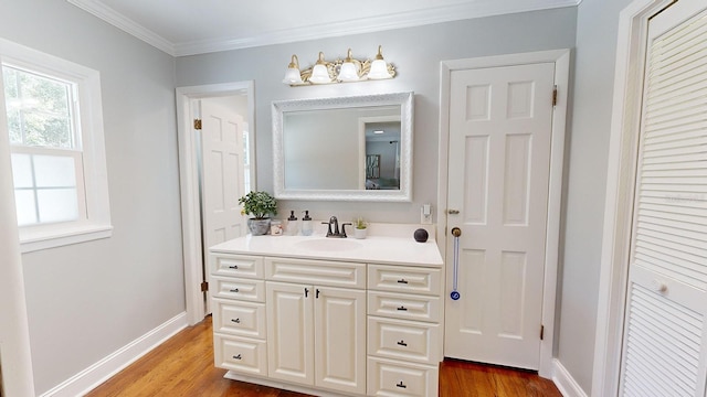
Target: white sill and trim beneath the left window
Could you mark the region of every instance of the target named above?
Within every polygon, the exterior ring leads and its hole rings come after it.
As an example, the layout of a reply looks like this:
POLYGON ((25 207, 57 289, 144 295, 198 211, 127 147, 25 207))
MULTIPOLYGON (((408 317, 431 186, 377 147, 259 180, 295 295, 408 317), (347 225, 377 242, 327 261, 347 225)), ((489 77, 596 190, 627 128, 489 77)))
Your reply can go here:
POLYGON ((25 254, 108 238, 112 234, 113 226, 108 224, 59 226, 43 230, 20 229, 20 251, 25 254))

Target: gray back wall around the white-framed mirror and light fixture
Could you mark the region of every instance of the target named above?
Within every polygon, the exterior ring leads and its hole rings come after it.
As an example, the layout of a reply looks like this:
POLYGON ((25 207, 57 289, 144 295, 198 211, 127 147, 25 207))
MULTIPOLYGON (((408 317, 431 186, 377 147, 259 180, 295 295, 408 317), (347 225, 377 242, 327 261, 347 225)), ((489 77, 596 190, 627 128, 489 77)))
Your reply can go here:
MULTIPOLYGON (((257 189, 273 191, 271 103, 273 100, 415 92, 414 183, 412 203, 279 202, 279 214, 310 210, 315 218, 362 215, 371 222, 418 223, 423 203, 437 196, 440 120, 440 62, 574 46, 576 8, 457 21, 414 29, 323 39, 240 51, 184 56, 177 60, 177 85, 191 86, 238 81, 255 82, 257 189), (370 58, 378 45, 399 75, 392 81, 289 87, 281 83, 292 54, 302 68, 319 51, 327 60, 370 58)), ((436 219, 435 219, 436 222, 436 219)))

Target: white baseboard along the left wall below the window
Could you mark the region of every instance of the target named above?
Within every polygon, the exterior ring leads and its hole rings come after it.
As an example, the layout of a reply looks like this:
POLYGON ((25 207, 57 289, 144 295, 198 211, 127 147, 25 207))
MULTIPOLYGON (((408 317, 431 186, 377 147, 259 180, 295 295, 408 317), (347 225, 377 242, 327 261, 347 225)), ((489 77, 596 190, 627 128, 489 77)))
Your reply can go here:
POLYGON ((83 396, 173 336, 177 332, 187 328, 187 312, 177 314, 107 357, 62 382, 51 390, 42 394, 41 397, 83 396))

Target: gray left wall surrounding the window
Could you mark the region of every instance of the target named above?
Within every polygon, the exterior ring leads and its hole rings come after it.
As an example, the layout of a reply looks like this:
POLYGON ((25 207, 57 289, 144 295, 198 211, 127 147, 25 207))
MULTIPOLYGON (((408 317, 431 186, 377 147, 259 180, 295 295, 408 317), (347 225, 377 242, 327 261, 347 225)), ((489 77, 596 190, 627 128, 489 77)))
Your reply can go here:
POLYGON ((175 60, 66 1, 0 1, 0 36, 103 88, 113 237, 22 257, 41 394, 184 311, 175 60))

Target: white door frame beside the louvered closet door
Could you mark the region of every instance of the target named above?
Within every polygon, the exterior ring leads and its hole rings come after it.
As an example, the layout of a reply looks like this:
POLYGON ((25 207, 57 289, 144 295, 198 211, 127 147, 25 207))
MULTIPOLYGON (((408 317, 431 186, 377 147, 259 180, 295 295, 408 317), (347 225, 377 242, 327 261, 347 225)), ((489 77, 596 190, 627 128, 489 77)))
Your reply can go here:
POLYGON ((634 0, 619 14, 592 371, 597 397, 615 395, 621 376, 648 19, 673 1, 634 0))

